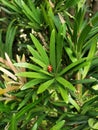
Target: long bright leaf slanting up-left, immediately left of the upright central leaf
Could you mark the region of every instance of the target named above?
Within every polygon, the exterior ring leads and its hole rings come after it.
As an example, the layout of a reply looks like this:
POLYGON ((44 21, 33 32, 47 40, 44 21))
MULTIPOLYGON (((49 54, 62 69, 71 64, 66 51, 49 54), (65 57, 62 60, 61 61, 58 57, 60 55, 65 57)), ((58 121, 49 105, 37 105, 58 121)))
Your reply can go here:
POLYGON ((38 50, 38 52, 40 53, 41 55, 41 58, 43 59, 43 62, 46 64, 46 65, 49 65, 49 59, 48 59, 48 55, 44 49, 44 47, 41 45, 41 43, 32 35, 30 34, 31 36, 31 39, 36 47, 36 49, 38 50))

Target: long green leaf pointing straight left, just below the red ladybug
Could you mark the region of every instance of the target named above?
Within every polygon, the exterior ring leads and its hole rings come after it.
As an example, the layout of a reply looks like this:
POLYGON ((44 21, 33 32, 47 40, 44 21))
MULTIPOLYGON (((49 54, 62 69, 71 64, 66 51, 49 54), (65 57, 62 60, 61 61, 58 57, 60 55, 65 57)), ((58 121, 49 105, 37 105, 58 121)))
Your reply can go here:
POLYGON ((17 76, 36 78, 36 79, 49 79, 49 76, 37 72, 20 72, 16 74, 17 76))

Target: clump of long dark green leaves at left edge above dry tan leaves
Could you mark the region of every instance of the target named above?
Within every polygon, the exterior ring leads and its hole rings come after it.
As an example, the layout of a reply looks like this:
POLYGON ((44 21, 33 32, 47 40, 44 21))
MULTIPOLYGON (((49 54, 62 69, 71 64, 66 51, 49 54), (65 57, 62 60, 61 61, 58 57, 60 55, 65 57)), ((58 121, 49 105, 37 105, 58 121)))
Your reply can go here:
POLYGON ((0 30, 0 56, 4 57, 5 52, 12 58, 12 48, 15 39, 17 26, 14 25, 15 20, 11 21, 6 34, 0 30))

